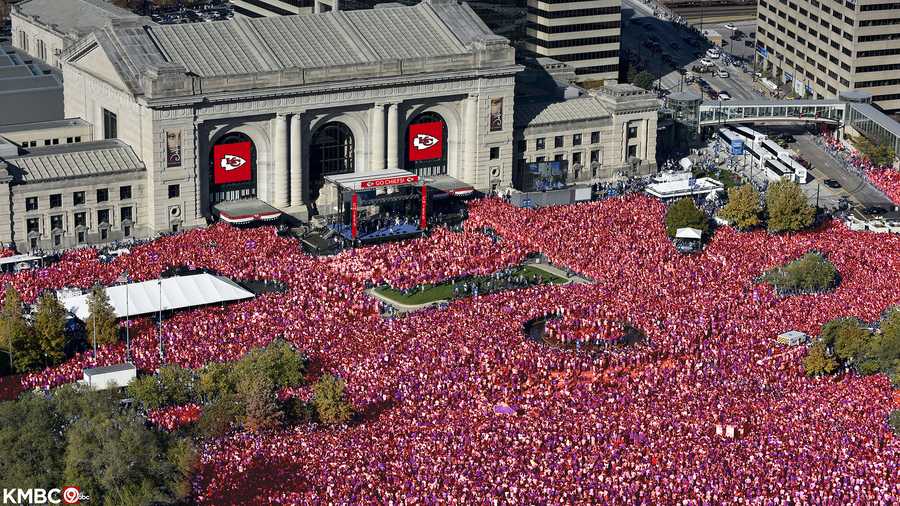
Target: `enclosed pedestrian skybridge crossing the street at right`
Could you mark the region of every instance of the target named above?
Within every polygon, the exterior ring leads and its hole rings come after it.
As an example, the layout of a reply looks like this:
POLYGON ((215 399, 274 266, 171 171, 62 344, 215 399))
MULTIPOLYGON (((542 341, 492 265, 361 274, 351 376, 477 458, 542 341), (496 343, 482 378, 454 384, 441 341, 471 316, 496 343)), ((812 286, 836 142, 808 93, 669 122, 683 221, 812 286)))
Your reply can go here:
POLYGON ((727 123, 816 122, 841 125, 850 103, 840 100, 727 100, 699 106, 701 127, 727 123))

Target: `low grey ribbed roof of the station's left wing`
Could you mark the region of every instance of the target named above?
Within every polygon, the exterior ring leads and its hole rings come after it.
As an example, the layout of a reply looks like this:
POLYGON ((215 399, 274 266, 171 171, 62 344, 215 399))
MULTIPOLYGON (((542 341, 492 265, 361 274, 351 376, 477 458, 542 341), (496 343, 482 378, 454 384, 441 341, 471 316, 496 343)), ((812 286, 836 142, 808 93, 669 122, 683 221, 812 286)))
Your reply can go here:
POLYGON ((116 139, 30 148, 4 161, 13 179, 22 183, 144 170, 131 146, 116 139))

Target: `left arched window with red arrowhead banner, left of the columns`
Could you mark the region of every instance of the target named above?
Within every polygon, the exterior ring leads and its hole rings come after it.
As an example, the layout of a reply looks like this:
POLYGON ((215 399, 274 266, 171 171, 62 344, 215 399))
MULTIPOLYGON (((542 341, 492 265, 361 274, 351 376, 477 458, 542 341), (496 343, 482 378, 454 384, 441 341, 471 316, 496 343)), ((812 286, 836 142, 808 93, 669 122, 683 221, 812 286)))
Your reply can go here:
POLYGON ((209 202, 256 197, 256 145, 242 132, 229 132, 209 156, 209 202))

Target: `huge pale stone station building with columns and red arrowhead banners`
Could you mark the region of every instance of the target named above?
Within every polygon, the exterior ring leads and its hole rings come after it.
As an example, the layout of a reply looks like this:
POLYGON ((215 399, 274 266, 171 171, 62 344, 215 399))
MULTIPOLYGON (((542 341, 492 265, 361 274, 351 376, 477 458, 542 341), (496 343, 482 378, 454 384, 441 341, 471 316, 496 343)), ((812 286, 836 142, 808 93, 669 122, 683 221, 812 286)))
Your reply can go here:
POLYGON ((341 174, 400 170, 487 193, 535 161, 566 160, 573 182, 655 171, 654 96, 629 85, 517 94, 513 47, 456 0, 112 19, 61 66, 69 119, 0 131, 0 243, 20 251, 242 212, 306 220, 341 174))

